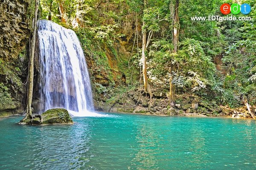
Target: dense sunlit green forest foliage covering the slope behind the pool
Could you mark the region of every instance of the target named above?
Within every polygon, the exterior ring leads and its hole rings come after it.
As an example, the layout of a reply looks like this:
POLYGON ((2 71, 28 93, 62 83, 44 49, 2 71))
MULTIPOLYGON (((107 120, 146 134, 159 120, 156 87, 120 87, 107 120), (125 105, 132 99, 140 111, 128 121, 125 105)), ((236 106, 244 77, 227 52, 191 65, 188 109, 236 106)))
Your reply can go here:
MULTIPOLYGON (((96 94, 108 97, 108 103, 121 99, 132 89, 131 85, 140 85, 140 38, 145 31, 147 40, 152 35, 145 51, 151 85, 169 88, 172 74, 176 91, 198 95, 212 105, 237 107, 241 94, 255 105, 255 20, 192 21, 190 17, 222 16, 221 4, 233 1, 180 0, 179 49, 173 54, 174 3, 173 0, 147 0, 146 4, 142 0, 42 0, 41 18, 46 19, 51 11, 54 22, 76 31, 90 64, 96 94), (61 23, 60 2, 66 23, 61 23), (216 58, 220 61, 215 61, 216 58), (172 65, 176 65, 176 69, 170 73, 172 65), (116 82, 121 82, 122 75, 125 75, 128 88, 117 87, 116 82), (96 79, 106 79, 108 85, 96 83, 96 79)), ((241 3, 249 3, 252 10, 247 16, 256 18, 254 0, 242 0, 241 3)), ((236 15, 239 16, 242 14, 236 15)), ((0 65, 3 65, 1 60, 0 65)), ((14 78, 7 65, 4 67, 3 75, 11 81, 14 78)), ((21 72, 19 67, 15 71, 21 72)))

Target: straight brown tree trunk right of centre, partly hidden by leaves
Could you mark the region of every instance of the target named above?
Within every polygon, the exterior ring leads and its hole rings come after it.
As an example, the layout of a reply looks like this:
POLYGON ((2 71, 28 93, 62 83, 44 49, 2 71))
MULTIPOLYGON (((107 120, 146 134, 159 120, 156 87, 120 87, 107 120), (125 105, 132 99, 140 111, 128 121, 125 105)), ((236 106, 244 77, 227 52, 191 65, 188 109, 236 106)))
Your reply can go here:
MULTIPOLYGON (((179 23, 179 0, 175 1, 175 9, 174 9, 174 15, 173 15, 173 36, 172 36, 172 44, 173 44, 173 53, 177 53, 178 51, 178 41, 179 41, 179 28, 180 28, 180 23, 179 23)), ((171 107, 175 107, 175 85, 172 83, 173 75, 172 72, 176 70, 175 64, 171 65, 170 68, 170 91, 169 91, 169 102, 171 107)))

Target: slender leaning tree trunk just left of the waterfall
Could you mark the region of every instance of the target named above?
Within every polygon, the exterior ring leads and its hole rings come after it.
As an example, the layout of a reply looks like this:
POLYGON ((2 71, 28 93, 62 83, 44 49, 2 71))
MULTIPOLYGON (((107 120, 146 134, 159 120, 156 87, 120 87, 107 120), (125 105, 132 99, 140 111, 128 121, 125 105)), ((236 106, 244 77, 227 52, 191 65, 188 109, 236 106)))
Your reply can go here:
POLYGON ((30 58, 29 58, 29 87, 28 87, 27 108, 26 108, 26 116, 21 120, 22 122, 28 118, 32 118, 31 105, 32 105, 33 82, 34 82, 35 37, 36 37, 36 29, 37 29, 38 7, 39 7, 39 0, 35 0, 33 36, 32 36, 31 51, 30 51, 30 58))

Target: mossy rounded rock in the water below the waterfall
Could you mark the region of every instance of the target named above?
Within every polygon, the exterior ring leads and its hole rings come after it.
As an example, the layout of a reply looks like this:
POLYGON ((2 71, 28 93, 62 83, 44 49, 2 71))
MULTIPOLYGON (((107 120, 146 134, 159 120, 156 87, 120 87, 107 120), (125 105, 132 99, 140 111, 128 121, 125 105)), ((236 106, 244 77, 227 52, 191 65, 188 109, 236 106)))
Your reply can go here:
POLYGON ((24 122, 20 124, 29 124, 29 125, 62 125, 62 124, 73 124, 73 120, 69 115, 68 111, 63 108, 55 108, 49 109, 48 111, 41 114, 41 121, 40 118, 37 117, 32 120, 26 119, 24 122))

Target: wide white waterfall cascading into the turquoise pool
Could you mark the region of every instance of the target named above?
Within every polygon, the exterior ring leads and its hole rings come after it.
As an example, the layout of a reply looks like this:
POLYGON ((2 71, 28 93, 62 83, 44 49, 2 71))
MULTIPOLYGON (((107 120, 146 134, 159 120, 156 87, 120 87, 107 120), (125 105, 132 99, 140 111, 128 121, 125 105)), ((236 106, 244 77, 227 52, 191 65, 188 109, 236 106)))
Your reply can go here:
POLYGON ((93 111, 90 77, 73 30, 38 21, 40 110, 65 108, 73 116, 93 111))

